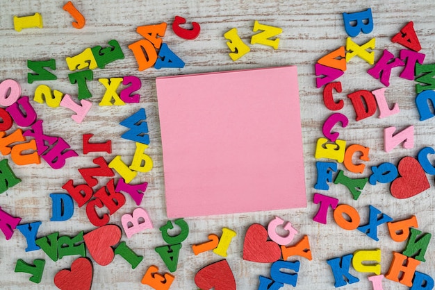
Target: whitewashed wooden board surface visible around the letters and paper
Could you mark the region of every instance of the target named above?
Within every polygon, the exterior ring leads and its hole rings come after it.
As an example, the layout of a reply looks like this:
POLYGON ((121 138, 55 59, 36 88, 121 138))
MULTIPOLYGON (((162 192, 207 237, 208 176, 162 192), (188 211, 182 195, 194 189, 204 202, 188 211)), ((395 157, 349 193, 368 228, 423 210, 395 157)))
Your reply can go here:
MULTIPOLYGON (((315 88, 314 63, 330 51, 345 45, 347 34, 343 27, 342 12, 355 12, 368 8, 362 1, 74 1, 79 11, 86 18, 86 25, 77 30, 71 25, 72 17, 62 7, 66 1, 5 1, 1 0, 0 11, 0 80, 13 78, 22 84, 22 94, 33 99, 35 88, 44 82, 27 83, 28 69, 26 60, 56 60, 57 80, 47 82, 53 89, 68 93, 75 97, 76 85, 68 80, 68 68, 65 62, 67 56, 75 56, 85 48, 106 44, 115 39, 120 42, 124 51, 124 60, 110 63, 106 69, 95 69, 94 80, 89 83, 93 97, 92 108, 84 121, 75 123, 71 118, 71 111, 65 108, 49 108, 47 105, 33 102, 38 117, 44 120, 44 130, 50 135, 60 136, 67 141, 79 157, 67 160, 67 165, 60 170, 54 170, 45 162, 40 165, 19 167, 10 162, 15 175, 22 179, 15 187, 0 195, 0 206, 13 216, 22 217, 22 223, 42 221, 38 237, 59 231, 61 235, 74 236, 81 230, 89 232, 94 229, 85 213, 85 207, 75 208, 72 219, 64 222, 50 222, 51 200, 49 194, 65 192, 62 185, 69 179, 82 180, 79 168, 92 167, 92 160, 98 153, 83 155, 82 135, 94 134, 95 142, 112 140, 113 153, 106 154, 106 160, 115 155, 121 155, 124 162, 129 164, 135 150, 134 142, 121 139, 125 128, 119 123, 139 108, 145 108, 149 126, 151 143, 147 149, 154 161, 154 169, 148 173, 140 173, 139 180, 147 181, 148 188, 142 201, 151 220, 153 230, 145 230, 135 234, 131 239, 122 240, 138 255, 145 258, 133 271, 131 265, 122 257, 115 259, 108 266, 94 267, 92 289, 149 289, 140 284, 147 268, 155 264, 163 273, 167 271, 165 264, 154 251, 156 246, 165 244, 158 228, 167 221, 165 214, 163 162, 161 150, 161 135, 159 129, 158 106, 156 99, 155 78, 158 76, 172 76, 177 74, 192 74, 211 71, 234 69, 250 69, 258 67, 273 67, 281 65, 297 65, 299 74, 299 94, 302 113, 302 135, 304 145, 304 160, 306 174, 306 194, 308 207, 297 210, 280 210, 272 212, 255 212, 249 214, 229 214, 224 216, 208 216, 186 219, 190 225, 190 234, 183 241, 179 257, 175 280, 171 289, 195 289, 195 273, 204 266, 217 262, 221 257, 212 251, 193 255, 190 246, 206 240, 208 234, 220 233, 223 227, 237 232, 228 249, 227 261, 234 273, 238 289, 256 289, 258 275, 269 276, 270 264, 256 264, 242 259, 243 239, 245 232, 252 223, 267 225, 274 216, 288 220, 298 230, 295 241, 299 241, 304 234, 310 239, 313 260, 301 258, 297 287, 299 289, 334 289, 334 278, 327 263, 327 259, 341 257, 354 253, 359 249, 381 248, 381 273, 386 273, 393 257, 392 251, 402 252, 405 242, 396 243, 388 235, 385 225, 378 228, 379 241, 374 241, 365 234, 353 230, 346 231, 338 227, 328 216, 327 225, 314 223, 312 217, 317 212, 318 205, 312 203, 315 192, 313 185, 316 179, 315 170, 315 142, 322 137, 323 121, 331 114, 322 101, 322 89, 315 88), (19 3, 19 4, 18 4, 19 3), (40 12, 44 21, 44 28, 28 29, 17 33, 13 29, 13 15, 33 15, 40 12), (172 51, 177 53, 186 67, 183 69, 147 69, 138 71, 133 53, 127 46, 141 36, 136 33, 136 27, 161 22, 172 23, 175 15, 185 17, 188 22, 201 24, 202 31, 195 40, 183 40, 174 35, 168 26, 164 41, 172 51), (222 36, 229 29, 236 27, 240 37, 249 43, 252 36, 254 20, 271 26, 283 28, 279 49, 268 46, 251 45, 250 53, 233 62, 229 56, 226 40, 222 36), (98 103, 105 89, 98 78, 138 76, 142 80, 139 93, 139 104, 122 107, 99 107, 98 103)), ((426 54, 425 63, 435 62, 435 18, 433 17, 432 1, 373 1, 370 3, 375 28, 370 35, 359 35, 354 41, 363 44, 376 37, 377 60, 383 49, 388 49, 395 55, 402 47, 390 41, 400 28, 413 21, 414 28, 422 45, 422 53, 426 54)), ((400 70, 393 70, 390 87, 386 89, 388 103, 398 103, 400 114, 386 119, 378 119, 377 114, 368 119, 354 121, 355 112, 347 100, 346 95, 358 89, 378 89, 383 87, 379 80, 366 74, 370 65, 365 61, 354 58, 347 64, 345 75, 340 78, 343 92, 335 94, 336 98, 345 100, 345 108, 340 112, 345 114, 350 124, 340 130, 340 139, 347 144, 361 144, 370 147, 370 162, 366 162, 368 176, 372 165, 381 162, 397 164, 406 156, 416 157, 420 148, 435 146, 434 120, 418 121, 418 111, 414 99, 416 96, 415 82, 398 78, 400 70), (397 130, 415 126, 415 144, 412 149, 398 146, 390 153, 384 152, 383 132, 385 127, 395 126, 397 130)), ((267 85, 265 80, 264 85, 267 85)), ((180 140, 188 142, 188 140, 180 140)), ((267 152, 259 153, 267 156, 267 152)), ((9 157, 7 157, 9 158, 9 157)), ((352 176, 350 176, 352 177, 352 176)), ((353 177, 356 177, 353 176, 353 177)), ((415 214, 419 229, 422 232, 435 232, 435 202, 434 176, 428 176, 431 188, 413 198, 399 200, 389 193, 388 184, 376 186, 366 185, 358 201, 354 201, 350 192, 341 185, 331 185, 331 190, 321 192, 334 196, 340 203, 352 205, 361 215, 361 223, 368 221, 368 205, 373 205, 395 220, 406 219, 415 214)), ((267 193, 265 193, 267 194, 267 193)), ((120 225, 121 216, 133 212, 136 203, 127 196, 126 204, 118 212, 110 216, 111 223, 120 225)), ((435 253, 433 242, 429 244, 427 262, 418 266, 418 271, 433 276, 435 273, 435 253)), ((63 268, 70 268, 76 257, 64 257, 58 262, 52 262, 41 250, 26 253, 26 239, 15 231, 12 239, 6 241, 0 234, 0 278, 2 289, 55 289, 54 275, 63 268), (17 259, 28 261, 46 259, 44 274, 40 284, 32 284, 28 276, 14 273, 17 259)), ((370 289, 366 273, 351 270, 361 281, 347 285, 346 289, 370 289)), ((407 289, 401 284, 384 280, 384 289, 407 289)), ((286 285, 283 289, 292 289, 286 285)))

